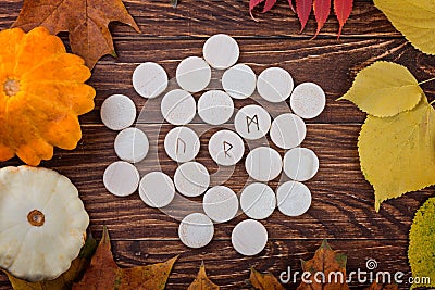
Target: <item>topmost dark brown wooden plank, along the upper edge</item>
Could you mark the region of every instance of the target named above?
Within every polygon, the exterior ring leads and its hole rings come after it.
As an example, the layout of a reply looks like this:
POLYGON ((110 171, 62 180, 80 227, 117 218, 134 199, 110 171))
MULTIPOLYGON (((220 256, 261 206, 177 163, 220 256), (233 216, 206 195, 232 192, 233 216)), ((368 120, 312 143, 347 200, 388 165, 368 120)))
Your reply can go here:
MULTIPOLYGON (((138 23, 142 34, 136 34, 126 25, 111 25, 115 41, 120 37, 130 38, 197 38, 216 33, 235 37, 304 38, 315 31, 315 20, 311 15, 303 34, 300 24, 286 1, 278 1, 271 12, 261 14, 256 9, 259 22, 251 20, 247 0, 179 1, 174 9, 169 0, 125 0, 126 8, 138 23), (212 25, 210 25, 212 24, 212 25)), ((0 27, 12 25, 18 15, 22 0, 7 0, 0 7, 0 27)), ((319 38, 336 38, 338 23, 330 16, 319 38)), ((347 37, 401 37, 378 11, 372 1, 356 0, 352 14, 341 38, 347 37)), ((315 42, 312 42, 315 43, 315 42)))

